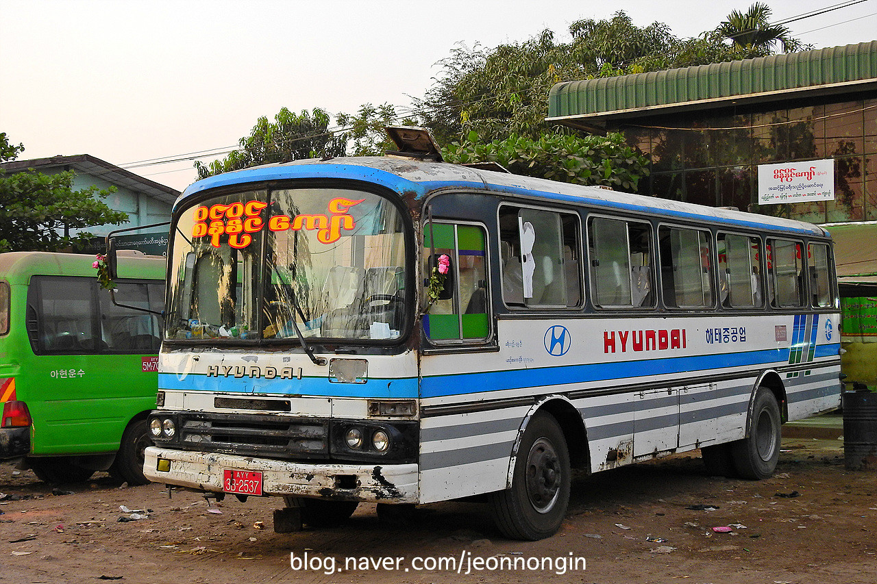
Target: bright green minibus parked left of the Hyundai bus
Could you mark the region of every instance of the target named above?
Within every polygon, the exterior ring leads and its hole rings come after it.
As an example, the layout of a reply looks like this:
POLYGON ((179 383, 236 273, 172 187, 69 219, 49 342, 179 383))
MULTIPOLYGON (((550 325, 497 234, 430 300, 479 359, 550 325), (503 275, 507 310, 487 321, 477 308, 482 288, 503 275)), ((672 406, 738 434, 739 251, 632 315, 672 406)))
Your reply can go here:
POLYGON ((0 253, 0 459, 18 460, 42 481, 109 471, 145 484, 165 259, 119 257, 112 295, 92 262, 75 253, 0 253))

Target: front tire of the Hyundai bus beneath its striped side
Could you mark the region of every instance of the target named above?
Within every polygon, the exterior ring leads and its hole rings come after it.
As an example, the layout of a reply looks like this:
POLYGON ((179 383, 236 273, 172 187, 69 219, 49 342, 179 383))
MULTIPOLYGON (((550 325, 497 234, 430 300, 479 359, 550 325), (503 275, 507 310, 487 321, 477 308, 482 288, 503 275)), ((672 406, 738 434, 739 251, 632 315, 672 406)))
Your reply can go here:
POLYGON ((496 527, 512 539, 553 536, 567 515, 569 489, 569 451, 563 431, 553 416, 538 412, 518 446, 511 488, 490 494, 496 527))

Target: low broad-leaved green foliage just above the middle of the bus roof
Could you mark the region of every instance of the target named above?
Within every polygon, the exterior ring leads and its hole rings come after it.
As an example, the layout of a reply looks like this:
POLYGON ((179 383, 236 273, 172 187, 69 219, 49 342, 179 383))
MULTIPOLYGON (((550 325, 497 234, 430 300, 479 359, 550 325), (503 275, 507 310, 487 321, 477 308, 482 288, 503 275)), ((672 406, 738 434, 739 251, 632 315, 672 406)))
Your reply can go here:
POLYGON ((636 191, 639 179, 649 172, 648 160, 619 133, 581 138, 546 132, 538 139, 512 134, 485 143, 469 132, 464 142, 446 146, 442 156, 459 164, 497 162, 513 174, 625 191, 636 191))

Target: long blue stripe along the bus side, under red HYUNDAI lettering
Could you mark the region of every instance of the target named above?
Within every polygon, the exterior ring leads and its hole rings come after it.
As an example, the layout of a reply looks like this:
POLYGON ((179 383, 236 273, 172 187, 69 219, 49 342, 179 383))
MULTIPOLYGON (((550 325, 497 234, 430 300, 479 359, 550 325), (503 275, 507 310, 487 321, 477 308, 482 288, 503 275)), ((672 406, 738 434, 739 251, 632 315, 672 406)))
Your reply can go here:
MULTIPOLYGON (((833 345, 833 355, 838 354, 838 345, 833 345)), ((631 378, 631 367, 636 367, 637 377, 664 374, 681 374, 692 371, 709 371, 717 367, 765 366, 787 363, 789 350, 766 349, 749 353, 730 353, 721 355, 697 355, 694 357, 673 357, 619 363, 591 363, 563 367, 538 367, 513 371, 489 371, 474 374, 432 375, 424 377, 421 383, 421 397, 442 395, 474 394, 485 391, 538 388, 545 385, 564 385, 570 383, 590 383, 595 381, 614 381, 631 378)), ((681 380, 668 383, 681 383, 681 380)))

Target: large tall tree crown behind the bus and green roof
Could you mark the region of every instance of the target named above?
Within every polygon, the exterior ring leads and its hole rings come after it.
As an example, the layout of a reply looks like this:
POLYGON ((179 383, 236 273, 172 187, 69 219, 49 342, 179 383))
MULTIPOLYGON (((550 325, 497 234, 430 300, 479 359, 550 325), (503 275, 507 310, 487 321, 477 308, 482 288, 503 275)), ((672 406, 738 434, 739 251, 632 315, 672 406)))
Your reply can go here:
MULTIPOLYGON (((731 17, 729 17, 731 18, 731 17)), ((444 61, 437 81, 415 100, 422 125, 440 144, 470 130, 486 140, 511 133, 538 139, 545 131, 572 133, 545 122, 548 93, 557 82, 691 67, 752 56, 726 44, 715 31, 680 39, 667 25, 634 25, 619 11, 603 20, 583 19, 569 26, 570 42, 557 42, 548 30, 524 42, 494 49, 457 46, 444 61)), ((784 46, 795 45, 794 39, 784 46)), ((770 53, 772 46, 760 46, 770 53)), ((757 55, 756 55, 757 56, 757 55)))

